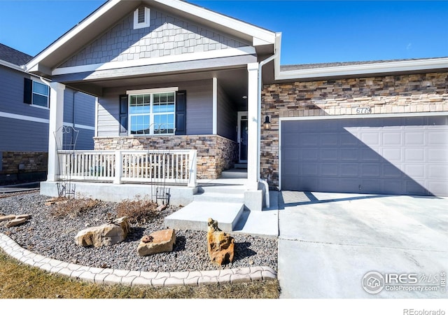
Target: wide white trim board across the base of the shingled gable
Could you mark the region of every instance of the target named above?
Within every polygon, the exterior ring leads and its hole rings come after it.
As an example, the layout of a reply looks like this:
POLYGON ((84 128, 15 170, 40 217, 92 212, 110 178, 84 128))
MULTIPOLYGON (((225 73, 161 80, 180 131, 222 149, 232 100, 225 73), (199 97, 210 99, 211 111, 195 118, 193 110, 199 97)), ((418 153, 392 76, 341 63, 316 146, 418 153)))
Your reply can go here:
POLYGON ((169 64, 173 62, 187 62, 201 59, 214 59, 222 57, 234 57, 255 54, 255 48, 245 46, 240 48, 225 48, 220 50, 211 50, 207 52, 190 52, 182 55, 169 55, 156 58, 141 58, 135 60, 126 60, 123 62, 106 62, 102 64, 86 64, 85 66, 68 66, 57 68, 52 71, 53 76, 70 73, 82 73, 100 70, 112 70, 130 68, 132 66, 149 66, 155 64, 169 64))

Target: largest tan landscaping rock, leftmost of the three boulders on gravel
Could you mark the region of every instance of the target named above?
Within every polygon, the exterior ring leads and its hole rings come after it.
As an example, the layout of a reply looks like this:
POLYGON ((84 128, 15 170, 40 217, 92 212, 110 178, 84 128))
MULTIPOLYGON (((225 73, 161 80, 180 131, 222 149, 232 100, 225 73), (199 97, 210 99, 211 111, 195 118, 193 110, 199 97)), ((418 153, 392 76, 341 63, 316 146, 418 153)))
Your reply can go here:
POLYGON ((118 218, 112 223, 81 230, 75 237, 76 244, 80 246, 109 246, 124 241, 130 231, 127 217, 118 218))

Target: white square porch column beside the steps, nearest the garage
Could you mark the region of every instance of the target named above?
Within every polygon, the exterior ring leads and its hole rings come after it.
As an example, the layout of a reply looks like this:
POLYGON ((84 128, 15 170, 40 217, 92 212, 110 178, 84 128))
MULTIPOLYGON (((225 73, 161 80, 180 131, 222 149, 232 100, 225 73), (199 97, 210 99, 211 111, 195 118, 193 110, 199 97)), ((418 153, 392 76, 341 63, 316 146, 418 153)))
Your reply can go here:
POLYGON ((258 190, 258 133, 260 118, 258 117, 258 62, 247 64, 247 116, 248 116, 248 148, 247 148, 247 188, 258 190))

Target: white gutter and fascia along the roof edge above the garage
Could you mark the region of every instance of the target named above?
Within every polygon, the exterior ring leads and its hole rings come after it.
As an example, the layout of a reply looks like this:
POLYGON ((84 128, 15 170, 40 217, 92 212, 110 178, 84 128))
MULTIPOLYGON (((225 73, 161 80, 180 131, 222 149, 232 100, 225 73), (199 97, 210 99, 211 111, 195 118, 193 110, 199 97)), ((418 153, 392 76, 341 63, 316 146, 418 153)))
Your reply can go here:
POLYGON ((374 62, 370 64, 353 64, 346 66, 325 66, 290 71, 280 71, 280 60, 276 60, 275 80, 293 80, 309 78, 332 78, 363 74, 400 73, 406 71, 422 71, 448 69, 448 57, 433 59, 412 59, 395 62, 374 62))

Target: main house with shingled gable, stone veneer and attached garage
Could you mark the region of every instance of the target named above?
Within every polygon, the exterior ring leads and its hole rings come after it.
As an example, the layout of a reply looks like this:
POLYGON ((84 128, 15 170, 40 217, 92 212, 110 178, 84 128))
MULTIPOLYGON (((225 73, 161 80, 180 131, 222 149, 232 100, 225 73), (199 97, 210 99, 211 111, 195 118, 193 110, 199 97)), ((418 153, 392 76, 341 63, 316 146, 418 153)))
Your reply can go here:
MULTIPOLYGON (((192 150, 197 179, 247 163, 255 199, 260 183, 448 195, 447 58, 280 66, 280 51, 281 33, 185 1, 111 0, 26 68, 52 82, 50 131, 66 89, 97 97, 97 152, 192 150)), ((57 137, 48 183, 59 179, 57 137)), ((90 175, 135 160, 102 159, 90 175)), ((144 172, 148 159, 137 158, 144 172)))

